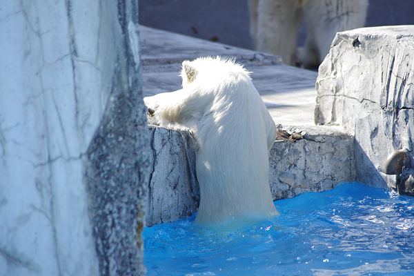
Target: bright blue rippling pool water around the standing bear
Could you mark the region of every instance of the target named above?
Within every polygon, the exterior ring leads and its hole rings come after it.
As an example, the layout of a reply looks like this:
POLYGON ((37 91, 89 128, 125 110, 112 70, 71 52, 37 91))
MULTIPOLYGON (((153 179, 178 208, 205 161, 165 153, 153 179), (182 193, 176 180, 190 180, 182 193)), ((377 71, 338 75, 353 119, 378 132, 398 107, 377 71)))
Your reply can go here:
POLYGON ((275 206, 228 235, 195 215, 145 228, 147 275, 414 275, 414 197, 341 184, 275 206))

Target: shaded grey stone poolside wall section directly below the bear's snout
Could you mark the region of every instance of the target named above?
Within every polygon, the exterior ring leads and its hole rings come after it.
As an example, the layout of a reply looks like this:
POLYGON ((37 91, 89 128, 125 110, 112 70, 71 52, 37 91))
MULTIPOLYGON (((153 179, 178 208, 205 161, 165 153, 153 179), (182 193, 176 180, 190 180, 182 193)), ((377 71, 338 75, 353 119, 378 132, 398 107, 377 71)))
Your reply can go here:
POLYGON ((195 176, 195 145, 186 131, 150 127, 152 170, 147 226, 176 221, 197 212, 199 187, 195 176), (189 152, 190 151, 190 152, 189 152))

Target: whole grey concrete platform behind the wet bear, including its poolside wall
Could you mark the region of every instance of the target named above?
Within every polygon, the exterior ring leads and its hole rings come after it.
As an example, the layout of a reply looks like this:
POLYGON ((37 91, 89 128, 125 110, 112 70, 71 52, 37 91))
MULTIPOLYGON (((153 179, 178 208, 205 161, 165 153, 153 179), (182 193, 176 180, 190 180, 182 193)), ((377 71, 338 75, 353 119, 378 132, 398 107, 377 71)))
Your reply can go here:
MULTIPOLYGON (((181 88, 181 62, 197 57, 235 59, 252 72, 257 91, 279 130, 298 141, 277 140, 270 150, 273 199, 319 192, 355 179, 353 136, 339 126, 315 126, 317 72, 282 64, 277 56, 140 27, 144 97, 181 88)), ((197 211, 195 149, 188 133, 151 127, 152 175, 147 225, 188 217, 197 211), (193 157, 192 157, 193 156, 193 157), (180 168, 177 168, 180 167, 180 168)))

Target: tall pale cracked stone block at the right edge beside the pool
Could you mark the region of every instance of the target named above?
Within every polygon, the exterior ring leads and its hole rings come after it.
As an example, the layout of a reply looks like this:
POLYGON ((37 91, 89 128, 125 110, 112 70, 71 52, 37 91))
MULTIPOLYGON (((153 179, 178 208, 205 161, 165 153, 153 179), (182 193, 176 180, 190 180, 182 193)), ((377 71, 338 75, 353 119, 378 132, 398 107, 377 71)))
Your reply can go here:
POLYGON ((357 179, 370 186, 412 183, 413 34, 414 26, 340 32, 319 67, 315 122, 355 135, 357 179), (397 177, 384 175, 386 158, 400 147, 410 152, 411 166, 397 177))

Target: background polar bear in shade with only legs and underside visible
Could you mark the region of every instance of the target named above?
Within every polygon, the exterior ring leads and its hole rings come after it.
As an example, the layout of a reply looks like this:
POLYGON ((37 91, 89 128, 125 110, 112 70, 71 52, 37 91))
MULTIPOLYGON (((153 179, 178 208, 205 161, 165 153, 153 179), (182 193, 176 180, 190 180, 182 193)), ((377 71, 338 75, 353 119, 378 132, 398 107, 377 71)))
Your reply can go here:
POLYGON ((364 26, 368 0, 248 0, 255 48, 282 57, 285 64, 315 68, 328 54, 337 32, 364 26), (304 51, 297 30, 304 19, 304 51))

